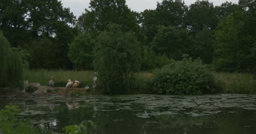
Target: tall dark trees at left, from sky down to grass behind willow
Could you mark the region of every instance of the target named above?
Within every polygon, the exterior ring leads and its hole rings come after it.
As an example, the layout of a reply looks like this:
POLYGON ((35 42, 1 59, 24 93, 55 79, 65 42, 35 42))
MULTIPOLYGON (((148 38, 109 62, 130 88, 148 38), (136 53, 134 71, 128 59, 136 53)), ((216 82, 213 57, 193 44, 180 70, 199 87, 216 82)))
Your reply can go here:
POLYGON ((72 67, 67 58, 68 44, 77 30, 72 28, 76 18, 69 8, 64 8, 59 0, 0 0, 0 3, 0 29, 12 46, 30 52, 33 59, 30 67, 72 67), (41 44, 43 42, 51 45, 41 44), (48 54, 51 58, 40 61, 47 65, 40 66, 41 63, 35 61, 38 57, 34 57, 34 52, 38 52, 38 47, 51 53, 48 54))

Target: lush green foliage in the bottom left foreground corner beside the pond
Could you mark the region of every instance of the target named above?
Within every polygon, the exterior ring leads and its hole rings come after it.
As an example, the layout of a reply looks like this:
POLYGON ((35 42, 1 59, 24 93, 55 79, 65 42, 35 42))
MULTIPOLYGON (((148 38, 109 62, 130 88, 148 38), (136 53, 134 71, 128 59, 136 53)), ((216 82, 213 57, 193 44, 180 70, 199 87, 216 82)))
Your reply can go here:
POLYGON ((5 106, 0 110, 0 130, 4 134, 50 134, 40 126, 17 119, 18 115, 18 106, 5 106))

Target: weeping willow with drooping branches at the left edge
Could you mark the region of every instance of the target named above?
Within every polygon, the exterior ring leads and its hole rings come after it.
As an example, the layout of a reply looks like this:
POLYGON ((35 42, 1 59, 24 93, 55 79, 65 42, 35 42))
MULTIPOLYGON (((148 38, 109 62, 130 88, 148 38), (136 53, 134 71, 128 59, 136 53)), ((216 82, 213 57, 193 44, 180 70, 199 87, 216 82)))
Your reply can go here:
POLYGON ((0 87, 21 87, 24 69, 22 54, 11 48, 10 42, 0 33, 0 87))

